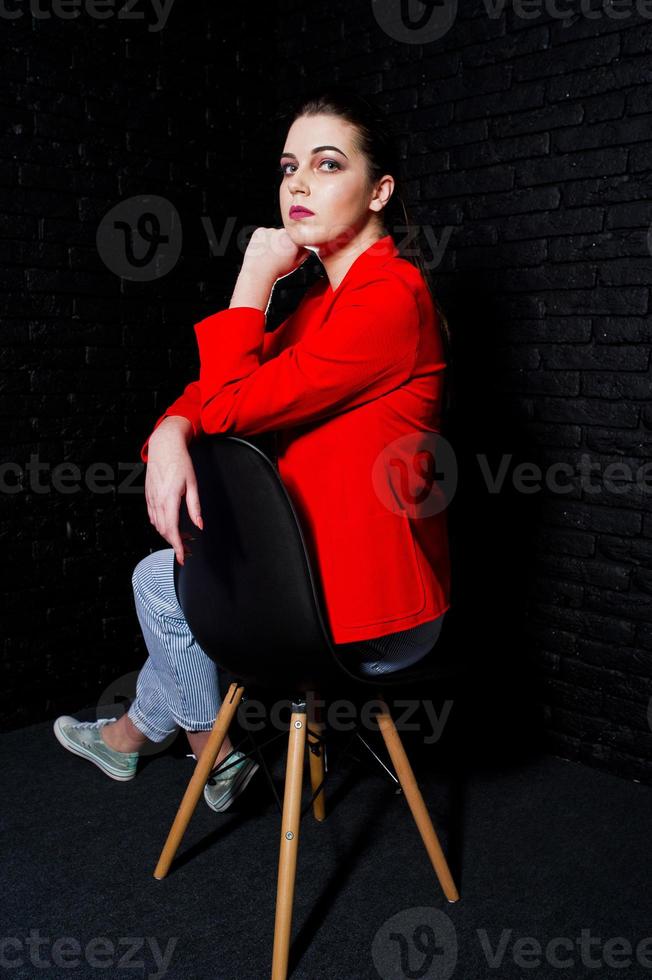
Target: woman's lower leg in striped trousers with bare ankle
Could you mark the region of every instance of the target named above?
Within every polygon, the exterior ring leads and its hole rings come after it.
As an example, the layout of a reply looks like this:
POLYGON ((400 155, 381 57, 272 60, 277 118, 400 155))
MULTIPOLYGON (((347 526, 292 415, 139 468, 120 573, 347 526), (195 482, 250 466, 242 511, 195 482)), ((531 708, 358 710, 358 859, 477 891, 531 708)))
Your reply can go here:
MULTIPOLYGON (((134 752, 149 739, 164 741, 183 728, 196 757, 208 739, 221 697, 217 666, 193 637, 174 589, 174 549, 147 555, 132 586, 136 613, 149 656, 138 675, 136 698, 102 737, 120 752, 134 752)), ((232 749, 227 736, 217 761, 232 749)))

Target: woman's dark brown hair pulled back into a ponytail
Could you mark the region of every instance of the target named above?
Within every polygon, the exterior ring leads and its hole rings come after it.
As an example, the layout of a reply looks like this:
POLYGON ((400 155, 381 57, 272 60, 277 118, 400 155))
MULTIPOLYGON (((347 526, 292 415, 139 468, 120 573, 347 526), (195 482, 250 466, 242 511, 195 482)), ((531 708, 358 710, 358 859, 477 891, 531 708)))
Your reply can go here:
POLYGON ((403 199, 404 180, 398 134, 378 106, 343 85, 319 89, 304 97, 287 119, 288 128, 300 116, 319 114, 339 116, 355 128, 354 142, 367 160, 370 182, 379 180, 385 174, 391 174, 394 178, 394 191, 381 212, 381 221, 386 231, 395 239, 399 255, 416 265, 425 280, 441 323, 446 361, 450 363, 452 352, 448 320, 434 294, 429 270, 425 265, 420 244, 421 227, 410 221, 403 199), (400 241, 394 230, 397 228, 406 233, 409 250, 405 254, 401 251, 400 241))

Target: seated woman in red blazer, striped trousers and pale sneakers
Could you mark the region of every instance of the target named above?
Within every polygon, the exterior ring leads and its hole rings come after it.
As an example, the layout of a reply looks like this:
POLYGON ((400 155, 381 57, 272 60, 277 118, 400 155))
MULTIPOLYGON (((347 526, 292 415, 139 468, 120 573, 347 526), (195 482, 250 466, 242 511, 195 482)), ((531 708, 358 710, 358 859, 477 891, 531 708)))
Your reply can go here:
MULTIPOLYGON (((333 641, 364 673, 413 663, 437 640, 450 604, 445 515, 432 494, 421 506, 406 478, 426 475, 415 459, 429 456, 440 427, 447 362, 424 274, 386 229, 398 169, 387 133, 386 119, 341 88, 295 113, 279 159, 283 228, 252 236, 229 308, 195 326, 199 380, 142 447, 150 521, 171 545, 139 562, 132 580, 150 656, 119 721, 55 723, 66 748, 113 778, 133 778, 139 748, 177 726, 199 758, 221 703, 217 669, 173 583, 184 494, 202 528, 188 452, 201 432, 277 433, 279 473, 321 576, 333 641), (274 284, 311 250, 326 278, 265 332, 274 284)), ((218 764, 231 751, 227 737, 218 764)), ((209 780, 209 806, 226 809, 256 768, 240 759, 209 780)))

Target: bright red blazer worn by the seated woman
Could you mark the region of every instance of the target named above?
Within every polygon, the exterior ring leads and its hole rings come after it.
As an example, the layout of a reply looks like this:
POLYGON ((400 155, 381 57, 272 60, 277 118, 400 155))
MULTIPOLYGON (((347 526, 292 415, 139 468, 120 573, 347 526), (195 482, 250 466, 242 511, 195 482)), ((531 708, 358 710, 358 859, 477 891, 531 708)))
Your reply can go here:
POLYGON ((154 428, 183 415, 196 436, 277 431, 279 474, 335 643, 441 615, 446 510, 424 463, 435 456, 446 362, 421 273, 385 235, 337 289, 321 280, 275 331, 265 323, 262 310, 234 307, 195 324, 199 380, 154 428))

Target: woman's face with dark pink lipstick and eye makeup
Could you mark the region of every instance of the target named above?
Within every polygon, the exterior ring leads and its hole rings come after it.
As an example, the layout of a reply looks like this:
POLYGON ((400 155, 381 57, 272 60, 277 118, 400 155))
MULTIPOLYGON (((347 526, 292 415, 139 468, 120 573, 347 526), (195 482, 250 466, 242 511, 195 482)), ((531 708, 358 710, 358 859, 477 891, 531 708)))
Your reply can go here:
POLYGON ((279 158, 279 204, 283 226, 296 245, 322 246, 324 252, 327 244, 340 247, 370 223, 379 224, 393 180, 369 184, 354 135, 353 126, 338 116, 300 116, 292 123, 279 158), (312 215, 293 215, 293 207, 312 215))

